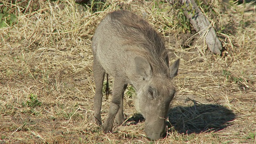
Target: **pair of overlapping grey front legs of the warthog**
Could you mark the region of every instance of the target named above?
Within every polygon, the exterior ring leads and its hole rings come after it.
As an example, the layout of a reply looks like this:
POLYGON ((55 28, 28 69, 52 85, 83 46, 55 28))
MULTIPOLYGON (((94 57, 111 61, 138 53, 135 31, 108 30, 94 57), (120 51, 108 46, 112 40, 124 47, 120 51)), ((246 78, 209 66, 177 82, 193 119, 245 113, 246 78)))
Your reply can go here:
POLYGON ((124 90, 127 84, 124 84, 123 80, 115 78, 114 80, 114 90, 113 96, 110 103, 110 108, 108 111, 108 117, 104 122, 104 132, 112 132, 112 127, 114 123, 114 118, 117 115, 118 123, 124 122, 124 113, 123 113, 123 97, 124 90))

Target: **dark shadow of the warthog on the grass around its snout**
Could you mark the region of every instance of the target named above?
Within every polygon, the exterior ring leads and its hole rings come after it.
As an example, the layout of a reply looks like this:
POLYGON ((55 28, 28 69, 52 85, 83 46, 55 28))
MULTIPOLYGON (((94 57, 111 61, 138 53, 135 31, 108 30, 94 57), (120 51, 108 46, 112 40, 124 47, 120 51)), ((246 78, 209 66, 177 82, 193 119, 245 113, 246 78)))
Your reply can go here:
MULTIPOLYGON (((199 104, 192 106, 176 106, 167 114, 169 131, 176 130, 182 134, 219 131, 232 124, 235 114, 219 104, 199 104)), ((137 124, 144 121, 141 114, 134 114, 128 121, 137 124)))

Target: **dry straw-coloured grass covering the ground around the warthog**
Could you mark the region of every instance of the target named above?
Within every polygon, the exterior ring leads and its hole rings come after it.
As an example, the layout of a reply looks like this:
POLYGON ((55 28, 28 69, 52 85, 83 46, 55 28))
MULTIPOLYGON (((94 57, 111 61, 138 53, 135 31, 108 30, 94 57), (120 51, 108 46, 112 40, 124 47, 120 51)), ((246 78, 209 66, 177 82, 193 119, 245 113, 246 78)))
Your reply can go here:
MULTIPOLYGON (((214 4, 216 14, 207 13, 225 47, 218 56, 202 38, 181 33, 168 3, 112 0, 98 9, 74 0, 2 3, 18 22, 0 29, 0 143, 152 143, 129 97, 129 126, 103 134, 91 121, 92 35, 103 16, 120 8, 164 35, 171 62, 181 58, 168 136, 156 143, 256 142, 256 14, 247 6, 221 12, 214 4)), ((109 102, 104 98, 103 121, 109 102)))

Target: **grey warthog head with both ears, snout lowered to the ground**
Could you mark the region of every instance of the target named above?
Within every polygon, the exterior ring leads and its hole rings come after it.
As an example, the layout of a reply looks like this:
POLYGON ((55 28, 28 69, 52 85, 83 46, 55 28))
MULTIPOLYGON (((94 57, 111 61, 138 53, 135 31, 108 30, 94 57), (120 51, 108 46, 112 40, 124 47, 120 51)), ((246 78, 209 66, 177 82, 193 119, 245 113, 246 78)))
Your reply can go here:
POLYGON ((170 66, 169 74, 154 74, 150 64, 141 57, 135 58, 136 71, 143 82, 134 96, 136 110, 145 118, 146 136, 158 140, 166 134, 166 114, 175 94, 172 78, 177 75, 179 60, 170 66))

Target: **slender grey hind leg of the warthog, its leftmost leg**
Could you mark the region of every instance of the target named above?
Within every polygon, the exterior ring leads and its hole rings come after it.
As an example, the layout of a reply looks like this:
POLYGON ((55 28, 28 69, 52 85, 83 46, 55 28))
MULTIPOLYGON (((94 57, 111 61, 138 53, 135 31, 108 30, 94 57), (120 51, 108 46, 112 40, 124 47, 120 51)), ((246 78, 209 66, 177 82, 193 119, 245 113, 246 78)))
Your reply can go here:
POLYGON ((95 96, 94 96, 94 122, 100 126, 101 116, 100 110, 102 105, 102 86, 105 76, 105 70, 102 68, 101 64, 98 62, 97 58, 93 59, 93 74, 95 81, 95 96))

